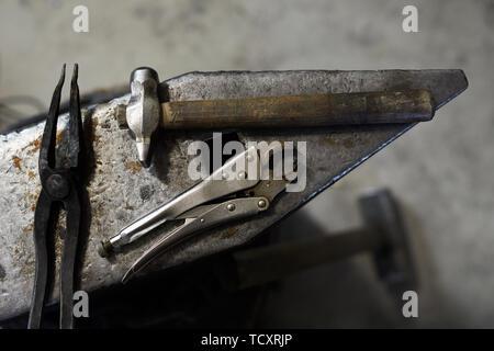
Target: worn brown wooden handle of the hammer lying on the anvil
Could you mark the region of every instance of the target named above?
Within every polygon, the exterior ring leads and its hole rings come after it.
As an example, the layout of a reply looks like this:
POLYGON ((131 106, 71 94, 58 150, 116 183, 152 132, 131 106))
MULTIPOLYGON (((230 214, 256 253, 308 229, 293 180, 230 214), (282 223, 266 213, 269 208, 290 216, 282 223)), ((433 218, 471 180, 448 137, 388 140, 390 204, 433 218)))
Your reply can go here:
POLYGON ((413 123, 434 116, 428 90, 282 95, 161 103, 167 129, 413 123))

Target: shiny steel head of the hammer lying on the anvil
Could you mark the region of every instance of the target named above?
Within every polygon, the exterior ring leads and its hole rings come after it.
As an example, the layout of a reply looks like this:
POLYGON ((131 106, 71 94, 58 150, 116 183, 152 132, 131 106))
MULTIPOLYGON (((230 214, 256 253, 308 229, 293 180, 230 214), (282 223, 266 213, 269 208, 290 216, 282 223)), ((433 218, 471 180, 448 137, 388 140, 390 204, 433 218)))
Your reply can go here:
POLYGON ((158 83, 158 73, 153 68, 139 67, 131 73, 126 120, 134 133, 138 159, 144 167, 149 167, 150 138, 158 128, 161 114, 158 83))

